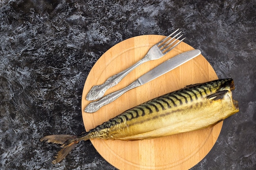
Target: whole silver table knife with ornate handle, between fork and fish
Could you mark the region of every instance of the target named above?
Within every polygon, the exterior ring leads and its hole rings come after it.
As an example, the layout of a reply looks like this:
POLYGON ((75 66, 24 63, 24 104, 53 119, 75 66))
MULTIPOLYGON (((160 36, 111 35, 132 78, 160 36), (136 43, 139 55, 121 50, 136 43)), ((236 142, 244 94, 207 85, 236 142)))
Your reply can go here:
POLYGON ((143 84, 146 84, 147 82, 150 82, 151 80, 173 70, 174 68, 177 68, 178 66, 184 64, 185 62, 188 62, 189 60, 195 58, 196 56, 200 55, 200 50, 191 50, 184 53, 181 53, 179 55, 176 55, 175 57, 172 57, 171 59, 163 62, 159 66, 153 68, 152 70, 148 71, 141 77, 139 77, 135 82, 132 82, 129 86, 119 90, 115 91, 113 93, 110 93, 109 95, 106 95, 102 99, 91 102, 86 106, 85 112, 87 113, 93 113, 99 110, 102 106, 105 106, 106 104, 109 104, 113 101, 115 101, 118 97, 120 97, 122 94, 126 93, 132 88, 141 86, 143 84))

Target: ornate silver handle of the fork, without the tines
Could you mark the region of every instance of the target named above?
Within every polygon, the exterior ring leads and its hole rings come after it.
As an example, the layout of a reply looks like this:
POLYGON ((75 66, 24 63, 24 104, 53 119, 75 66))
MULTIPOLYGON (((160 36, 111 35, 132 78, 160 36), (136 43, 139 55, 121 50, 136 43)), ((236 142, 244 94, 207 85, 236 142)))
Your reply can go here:
POLYGON ((151 57, 147 54, 144 58, 142 58, 141 60, 139 60, 137 63, 130 66, 126 70, 124 70, 116 75, 113 75, 112 77, 109 77, 106 80, 106 82, 104 82, 103 84, 93 86, 91 88, 91 90, 88 92, 86 99, 89 101, 100 99, 101 97, 103 97, 103 95, 109 88, 117 85, 133 69, 135 69, 140 64, 143 64, 144 62, 147 62, 149 60, 151 60, 151 57))

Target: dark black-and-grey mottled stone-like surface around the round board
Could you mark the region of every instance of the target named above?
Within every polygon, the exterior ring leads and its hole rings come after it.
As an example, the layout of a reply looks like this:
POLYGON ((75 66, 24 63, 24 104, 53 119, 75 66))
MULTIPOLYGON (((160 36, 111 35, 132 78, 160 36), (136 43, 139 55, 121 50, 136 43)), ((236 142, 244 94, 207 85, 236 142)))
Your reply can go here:
POLYGON ((53 165, 59 147, 40 138, 84 131, 83 85, 104 52, 181 28, 219 78, 234 78, 240 106, 191 170, 255 170, 255 21, 255 0, 1 0, 0 169, 115 170, 90 141, 53 165))

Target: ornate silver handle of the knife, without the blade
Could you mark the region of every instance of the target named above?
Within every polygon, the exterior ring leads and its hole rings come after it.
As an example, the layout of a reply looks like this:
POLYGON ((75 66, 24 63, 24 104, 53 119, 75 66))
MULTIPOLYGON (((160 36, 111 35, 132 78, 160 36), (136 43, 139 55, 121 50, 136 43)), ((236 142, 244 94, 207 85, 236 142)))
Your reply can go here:
POLYGON ((96 112, 97 110, 99 110, 102 106, 105 106, 106 104, 109 104, 111 102, 114 102, 118 97, 120 97, 122 94, 126 93, 127 91, 129 91, 132 88, 138 87, 140 86, 139 82, 136 80, 135 82, 133 82, 132 84, 130 84, 129 86, 119 90, 119 91, 115 91, 113 93, 110 93, 109 95, 106 95, 105 97, 103 97, 102 99, 95 101, 95 102, 91 102, 90 104, 88 104, 88 106, 86 106, 85 108, 85 112, 87 113, 93 113, 96 112))

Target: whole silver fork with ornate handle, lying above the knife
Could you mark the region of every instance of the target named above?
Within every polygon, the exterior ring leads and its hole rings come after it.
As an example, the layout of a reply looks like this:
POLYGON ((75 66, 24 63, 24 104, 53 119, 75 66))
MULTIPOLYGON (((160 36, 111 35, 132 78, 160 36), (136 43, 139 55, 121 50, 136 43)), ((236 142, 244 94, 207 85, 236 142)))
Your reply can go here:
POLYGON ((182 40, 180 40, 179 42, 177 42, 176 44, 174 44, 177 40, 179 40, 182 35, 180 35, 181 31, 179 33, 177 33, 175 36, 173 36, 172 38, 170 38, 172 35, 174 35, 179 29, 177 29, 176 31, 174 31, 173 33, 171 33, 170 35, 168 35, 166 38, 164 38, 162 41, 158 42, 157 44, 155 44, 154 46, 152 46, 148 53, 145 55, 144 58, 142 58, 141 60, 139 60, 137 63, 135 63, 134 65, 130 66, 129 68, 127 68, 126 70, 113 75, 112 77, 109 77, 106 82, 104 82, 101 85, 96 85, 93 86, 91 88, 91 90, 89 91, 89 93, 86 96, 86 99, 89 101, 92 100, 97 100, 100 99, 101 97, 103 97, 103 95, 105 94, 105 92, 117 85, 121 79, 123 79, 128 73, 130 73, 133 69, 135 69, 137 66, 143 64, 144 62, 148 62, 151 60, 157 60, 161 57, 163 57, 165 54, 167 54, 169 51, 171 51, 173 48, 175 48, 175 46, 177 46, 178 44, 180 44, 185 38, 183 38, 182 40), (176 38, 178 35, 180 35, 178 38, 176 38), (175 39, 176 38, 176 39, 175 39), (175 40, 174 40, 175 39, 175 40), (174 44, 174 45, 173 45, 174 44), (173 45, 173 46, 172 46, 173 45))

